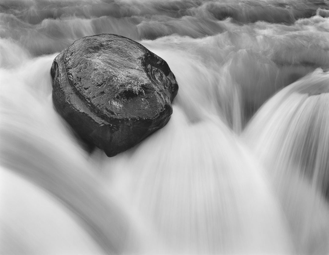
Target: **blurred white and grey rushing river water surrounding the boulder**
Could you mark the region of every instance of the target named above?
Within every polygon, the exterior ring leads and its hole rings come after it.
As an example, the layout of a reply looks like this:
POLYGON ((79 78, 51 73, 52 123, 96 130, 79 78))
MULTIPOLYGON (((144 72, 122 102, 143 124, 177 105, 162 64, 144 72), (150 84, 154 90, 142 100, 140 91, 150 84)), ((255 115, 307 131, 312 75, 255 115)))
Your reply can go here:
POLYGON ((329 253, 329 2, 0 8, 1 254, 329 253), (53 59, 100 33, 179 84, 169 123, 113 158, 84 151, 51 98, 53 59))

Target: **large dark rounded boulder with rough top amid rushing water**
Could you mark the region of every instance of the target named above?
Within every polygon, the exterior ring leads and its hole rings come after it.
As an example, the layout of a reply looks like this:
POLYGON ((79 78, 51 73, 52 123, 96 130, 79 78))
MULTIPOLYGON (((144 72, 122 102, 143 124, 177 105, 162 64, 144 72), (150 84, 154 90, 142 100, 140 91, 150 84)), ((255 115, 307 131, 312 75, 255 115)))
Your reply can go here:
POLYGON ((163 59, 112 34, 76 40, 55 58, 51 76, 59 114, 110 157, 164 127, 178 91, 163 59))

